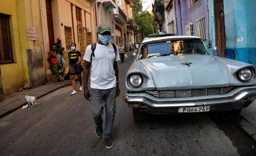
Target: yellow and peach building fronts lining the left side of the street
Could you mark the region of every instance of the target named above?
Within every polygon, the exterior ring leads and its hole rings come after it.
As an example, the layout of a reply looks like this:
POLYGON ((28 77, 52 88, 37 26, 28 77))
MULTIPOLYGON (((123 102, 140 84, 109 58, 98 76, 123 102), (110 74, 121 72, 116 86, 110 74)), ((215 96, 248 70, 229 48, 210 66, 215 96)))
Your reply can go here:
POLYGON ((0 5, 0 99, 38 87, 52 78, 47 56, 56 38, 65 48, 66 72, 72 42, 83 54, 96 41, 94 2, 87 0, 3 0, 0 5))

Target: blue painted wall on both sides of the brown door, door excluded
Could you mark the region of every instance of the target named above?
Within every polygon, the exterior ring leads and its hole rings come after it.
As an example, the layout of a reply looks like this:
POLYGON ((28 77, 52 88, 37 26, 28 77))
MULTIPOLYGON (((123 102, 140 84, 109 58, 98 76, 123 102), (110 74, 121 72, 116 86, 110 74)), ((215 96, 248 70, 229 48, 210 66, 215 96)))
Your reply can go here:
MULTIPOLYGON (((226 49, 225 57, 256 65, 256 1, 224 0, 226 49)), ((215 43, 215 21, 212 0, 208 0, 208 42, 215 43)), ((212 49, 209 50, 213 54, 212 49)))

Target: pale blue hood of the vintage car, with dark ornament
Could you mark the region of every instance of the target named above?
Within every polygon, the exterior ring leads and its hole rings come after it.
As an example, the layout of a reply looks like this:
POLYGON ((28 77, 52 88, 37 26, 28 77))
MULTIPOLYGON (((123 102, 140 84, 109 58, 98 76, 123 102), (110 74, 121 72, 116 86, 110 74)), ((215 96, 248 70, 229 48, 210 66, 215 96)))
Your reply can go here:
POLYGON ((227 67, 216 56, 180 55, 141 59, 156 89, 229 86, 227 67), (187 65, 186 65, 187 63, 187 65))

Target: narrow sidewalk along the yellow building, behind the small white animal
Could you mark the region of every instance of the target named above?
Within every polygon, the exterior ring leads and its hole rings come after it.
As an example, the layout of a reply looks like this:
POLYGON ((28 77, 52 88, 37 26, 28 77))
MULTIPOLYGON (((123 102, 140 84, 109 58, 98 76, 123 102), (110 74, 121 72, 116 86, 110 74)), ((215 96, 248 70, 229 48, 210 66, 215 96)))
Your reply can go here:
POLYGON ((46 94, 51 93, 52 91, 69 85, 71 85, 71 80, 65 80, 62 82, 51 82, 43 86, 7 95, 5 97, 5 100, 0 102, 0 118, 10 114, 13 111, 16 111, 19 108, 22 108, 23 105, 27 104, 27 101, 24 99, 24 95, 40 98, 46 94))

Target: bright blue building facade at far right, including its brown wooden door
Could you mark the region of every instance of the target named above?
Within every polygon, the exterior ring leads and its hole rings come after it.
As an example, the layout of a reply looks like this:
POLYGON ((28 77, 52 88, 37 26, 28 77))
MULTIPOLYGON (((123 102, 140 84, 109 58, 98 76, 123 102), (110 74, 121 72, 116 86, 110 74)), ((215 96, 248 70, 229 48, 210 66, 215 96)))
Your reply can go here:
POLYGON ((225 43, 222 56, 256 65, 254 6, 254 0, 208 1, 209 42, 218 47, 225 43))

